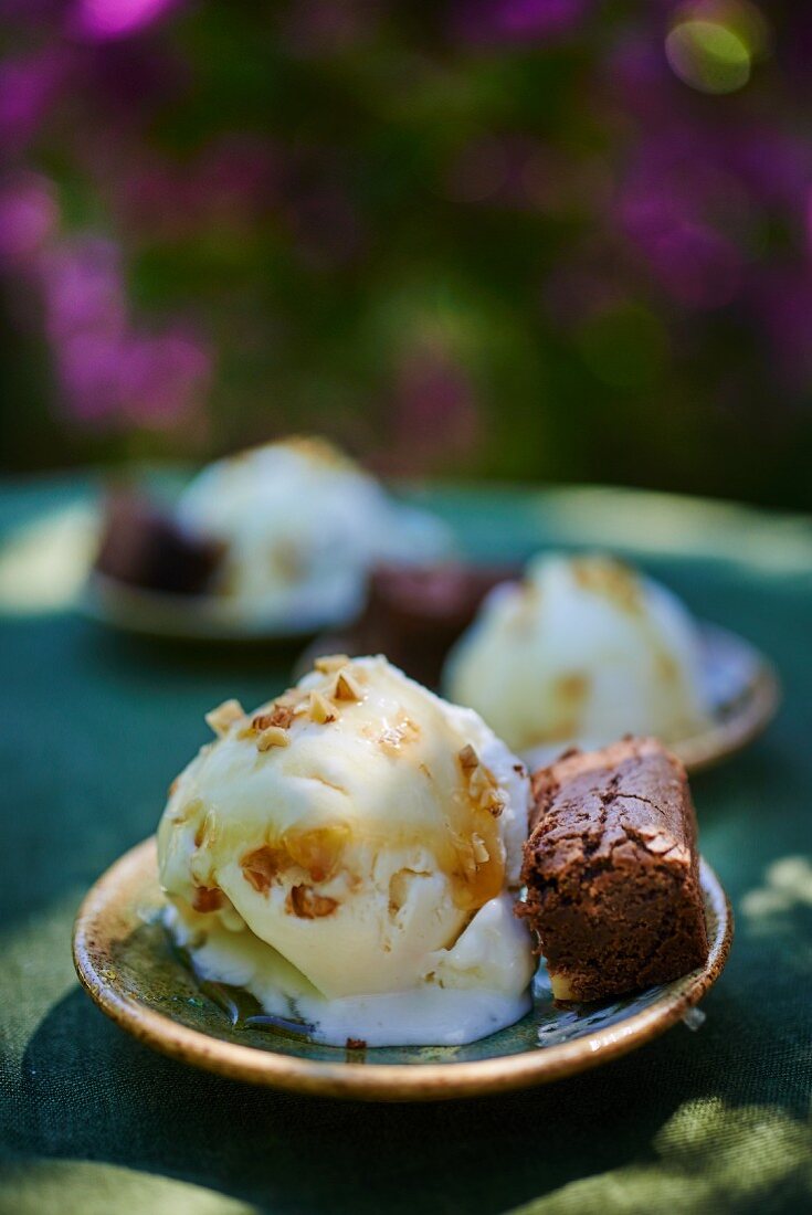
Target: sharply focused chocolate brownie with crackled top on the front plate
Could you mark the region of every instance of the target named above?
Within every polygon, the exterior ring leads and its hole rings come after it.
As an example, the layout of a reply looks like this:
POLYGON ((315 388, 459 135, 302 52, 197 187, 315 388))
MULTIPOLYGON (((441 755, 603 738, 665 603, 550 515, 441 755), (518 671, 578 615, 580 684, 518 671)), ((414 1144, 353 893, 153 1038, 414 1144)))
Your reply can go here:
POLYGON ((680 761, 654 739, 568 752, 532 778, 526 902, 557 1000, 602 1000, 707 957, 697 819, 680 761))

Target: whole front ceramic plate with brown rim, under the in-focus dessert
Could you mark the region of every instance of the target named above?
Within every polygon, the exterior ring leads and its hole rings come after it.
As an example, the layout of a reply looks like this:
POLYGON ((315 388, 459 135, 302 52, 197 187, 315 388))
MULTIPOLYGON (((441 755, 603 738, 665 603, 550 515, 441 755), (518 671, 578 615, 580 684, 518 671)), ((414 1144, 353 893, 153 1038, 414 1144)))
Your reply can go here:
POLYGON ((707 965, 673 983, 600 1005, 556 1008, 543 971, 518 1024, 468 1046, 320 1046, 235 1017, 229 989, 198 985, 159 912, 156 841, 118 860, 88 894, 73 953, 81 983, 118 1024, 156 1050, 238 1080, 368 1101, 436 1101, 520 1089, 607 1063, 673 1025, 718 978, 733 931, 718 878, 703 861, 707 965))

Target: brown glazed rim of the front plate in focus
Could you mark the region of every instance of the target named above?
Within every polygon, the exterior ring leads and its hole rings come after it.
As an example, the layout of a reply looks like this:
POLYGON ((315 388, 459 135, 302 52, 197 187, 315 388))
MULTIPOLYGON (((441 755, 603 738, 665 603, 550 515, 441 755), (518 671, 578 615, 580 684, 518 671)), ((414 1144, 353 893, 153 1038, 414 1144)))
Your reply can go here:
POLYGON ((96 966, 98 937, 113 939, 105 916, 119 905, 119 892, 145 880, 157 864, 154 836, 125 852, 85 895, 73 928, 73 961, 85 991, 122 1029, 147 1046, 180 1062, 232 1080, 288 1092, 363 1101, 441 1101, 530 1087, 575 1075, 658 1038, 684 1017, 714 985, 727 961, 733 939, 733 911, 718 877, 700 858, 703 892, 714 905, 718 927, 705 966, 680 981, 681 991, 658 1001, 627 1021, 596 1029, 582 1038, 497 1056, 447 1063, 365 1063, 304 1059, 271 1050, 241 1046, 184 1025, 122 994, 96 966))

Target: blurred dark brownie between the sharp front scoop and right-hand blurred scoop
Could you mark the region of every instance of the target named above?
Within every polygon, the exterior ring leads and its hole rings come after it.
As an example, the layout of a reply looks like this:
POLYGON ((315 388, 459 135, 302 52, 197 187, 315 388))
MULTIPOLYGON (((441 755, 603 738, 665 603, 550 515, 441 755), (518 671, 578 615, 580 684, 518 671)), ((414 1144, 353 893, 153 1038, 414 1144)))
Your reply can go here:
POLYGON ((367 606, 354 629, 355 650, 385 654, 412 679, 436 686, 449 650, 485 595, 519 576, 508 565, 380 565, 372 573, 367 606))

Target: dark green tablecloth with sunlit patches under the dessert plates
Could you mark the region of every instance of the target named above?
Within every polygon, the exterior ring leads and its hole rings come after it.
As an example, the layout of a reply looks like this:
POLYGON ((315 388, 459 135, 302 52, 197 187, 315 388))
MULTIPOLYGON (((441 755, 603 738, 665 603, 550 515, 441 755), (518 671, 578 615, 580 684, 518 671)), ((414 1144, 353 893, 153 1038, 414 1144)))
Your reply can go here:
MULTIPOLYGON (((6 486, 0 529, 18 541, 86 492, 80 479, 6 486)), ((280 689, 291 655, 136 644, 61 609, 58 593, 35 610, 34 592, 9 592, 28 575, 10 573, 6 543, 0 1210, 812 1209, 812 525, 628 492, 427 497, 481 556, 613 544, 778 665, 776 724, 694 785, 703 850, 738 921, 706 1022, 548 1087, 438 1106, 252 1090, 131 1041, 79 990, 75 908, 153 830, 203 712, 280 689)))

